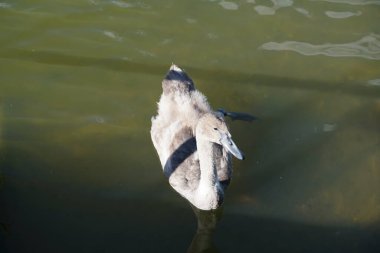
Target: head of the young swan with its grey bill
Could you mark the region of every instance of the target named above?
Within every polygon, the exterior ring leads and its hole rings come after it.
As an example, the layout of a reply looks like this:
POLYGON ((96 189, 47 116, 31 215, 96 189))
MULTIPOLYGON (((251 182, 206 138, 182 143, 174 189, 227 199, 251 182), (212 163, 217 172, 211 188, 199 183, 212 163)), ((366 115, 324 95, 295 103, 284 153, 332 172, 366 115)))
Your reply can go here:
POLYGON ((217 113, 207 113, 202 116, 197 125, 196 135, 197 139, 201 138, 222 145, 237 159, 244 159, 243 153, 233 142, 222 115, 217 113))

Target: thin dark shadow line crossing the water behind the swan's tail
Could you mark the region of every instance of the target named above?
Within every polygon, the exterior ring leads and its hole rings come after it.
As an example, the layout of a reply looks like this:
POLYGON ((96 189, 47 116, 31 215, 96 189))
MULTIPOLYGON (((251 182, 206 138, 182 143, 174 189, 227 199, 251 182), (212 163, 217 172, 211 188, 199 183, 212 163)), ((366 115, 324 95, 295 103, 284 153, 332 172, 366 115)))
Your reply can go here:
MULTIPOLYGON (((95 67, 110 69, 113 71, 142 73, 147 75, 163 76, 170 63, 149 64, 125 61, 117 58, 96 58, 86 56, 67 55, 52 51, 27 51, 21 49, 9 49, 0 51, 0 58, 32 61, 51 65, 66 65, 78 67, 95 67)), ((342 81, 323 82, 317 80, 302 80, 296 78, 276 77, 262 74, 246 73, 225 69, 202 69, 197 67, 180 66, 196 79, 212 80, 224 83, 254 84, 258 86, 294 88, 321 92, 340 92, 355 96, 379 97, 380 89, 375 86, 363 85, 363 83, 342 81), (307 85, 305 85, 307 83, 307 85)))

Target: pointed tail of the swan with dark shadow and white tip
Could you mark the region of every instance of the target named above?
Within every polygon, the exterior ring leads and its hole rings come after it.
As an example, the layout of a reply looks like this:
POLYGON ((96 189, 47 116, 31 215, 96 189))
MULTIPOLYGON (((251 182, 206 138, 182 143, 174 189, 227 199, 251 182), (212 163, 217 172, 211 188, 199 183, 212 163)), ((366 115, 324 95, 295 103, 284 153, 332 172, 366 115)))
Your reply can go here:
POLYGON ((193 80, 179 68, 172 64, 165 79, 162 81, 162 89, 165 95, 173 92, 189 93, 195 90, 193 80))

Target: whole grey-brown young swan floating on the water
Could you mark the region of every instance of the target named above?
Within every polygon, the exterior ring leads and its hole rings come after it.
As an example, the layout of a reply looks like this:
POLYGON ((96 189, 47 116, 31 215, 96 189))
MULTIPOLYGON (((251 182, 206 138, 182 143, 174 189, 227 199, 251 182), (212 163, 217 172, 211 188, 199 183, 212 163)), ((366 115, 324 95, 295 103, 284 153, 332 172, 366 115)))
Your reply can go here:
POLYGON ((170 185, 194 206, 218 208, 231 176, 231 154, 243 159, 223 114, 214 112, 192 80, 172 65, 162 82, 151 137, 170 185))

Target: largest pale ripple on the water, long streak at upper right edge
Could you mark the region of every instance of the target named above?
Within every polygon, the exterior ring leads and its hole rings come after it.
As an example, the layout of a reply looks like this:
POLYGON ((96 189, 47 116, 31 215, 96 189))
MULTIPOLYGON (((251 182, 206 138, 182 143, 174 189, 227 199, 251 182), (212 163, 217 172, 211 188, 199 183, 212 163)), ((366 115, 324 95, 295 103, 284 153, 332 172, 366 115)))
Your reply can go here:
POLYGON ((331 57, 361 57, 370 60, 380 60, 380 35, 370 34, 358 41, 322 45, 313 45, 299 41, 267 42, 261 47, 272 51, 295 51, 302 55, 326 55, 331 57))

